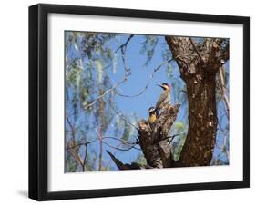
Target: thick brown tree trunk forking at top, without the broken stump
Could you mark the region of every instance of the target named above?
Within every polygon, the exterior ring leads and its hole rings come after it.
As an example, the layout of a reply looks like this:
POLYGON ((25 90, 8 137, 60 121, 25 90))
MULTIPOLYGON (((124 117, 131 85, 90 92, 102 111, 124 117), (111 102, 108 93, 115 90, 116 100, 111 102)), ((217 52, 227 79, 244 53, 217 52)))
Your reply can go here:
POLYGON ((175 166, 210 165, 217 131, 216 73, 220 68, 221 39, 195 44, 189 37, 167 36, 166 41, 187 85, 189 131, 175 166))

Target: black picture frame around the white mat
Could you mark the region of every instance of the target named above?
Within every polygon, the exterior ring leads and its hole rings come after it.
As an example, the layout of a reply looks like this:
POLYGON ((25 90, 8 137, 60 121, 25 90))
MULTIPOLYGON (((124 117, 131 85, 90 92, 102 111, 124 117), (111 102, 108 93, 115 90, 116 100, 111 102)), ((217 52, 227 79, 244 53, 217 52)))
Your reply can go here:
POLYGON ((67 200, 250 187, 250 18, 76 5, 29 7, 29 198, 67 200), (101 190, 47 190, 47 16, 50 13, 166 19, 243 25, 243 180, 101 190))

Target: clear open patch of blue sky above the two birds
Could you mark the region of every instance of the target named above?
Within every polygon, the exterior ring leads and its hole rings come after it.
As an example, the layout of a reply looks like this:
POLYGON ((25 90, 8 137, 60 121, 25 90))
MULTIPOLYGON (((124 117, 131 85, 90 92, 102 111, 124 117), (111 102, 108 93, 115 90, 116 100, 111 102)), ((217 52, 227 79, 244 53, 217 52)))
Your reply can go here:
MULTIPOLYGON (((160 37, 160 42, 163 42, 164 37, 160 37)), ((128 66, 132 70, 132 74, 128 78, 127 83, 123 83, 118 87, 120 93, 125 93, 128 95, 134 95, 139 93, 144 89, 146 83, 148 82, 149 75, 152 71, 163 62, 161 56, 162 46, 160 43, 155 48, 155 54, 151 60, 151 63, 148 66, 145 66, 147 61, 147 56, 145 54, 140 54, 141 43, 145 41, 144 36, 137 36, 132 39, 128 44, 127 50, 127 62, 128 66)), ((123 77, 123 68, 122 63, 118 62, 117 73, 109 73, 113 82, 117 83, 118 80, 123 77)), ((175 69, 176 70, 176 69, 175 69)), ((178 74, 178 73, 177 73, 178 74)), ((136 112, 139 117, 147 118, 148 117, 148 108, 154 106, 158 100, 159 93, 161 89, 156 86, 160 83, 171 83, 170 79, 167 76, 165 66, 162 66, 157 73, 154 74, 154 77, 151 83, 148 86, 148 90, 142 95, 136 98, 124 98, 118 97, 118 104, 124 112, 136 112), (135 106, 131 106, 131 105, 135 106)), ((180 83, 183 83, 180 81, 180 83)), ((174 95, 171 93, 171 102, 175 102, 174 95)))

